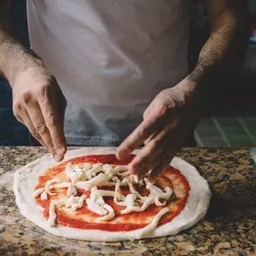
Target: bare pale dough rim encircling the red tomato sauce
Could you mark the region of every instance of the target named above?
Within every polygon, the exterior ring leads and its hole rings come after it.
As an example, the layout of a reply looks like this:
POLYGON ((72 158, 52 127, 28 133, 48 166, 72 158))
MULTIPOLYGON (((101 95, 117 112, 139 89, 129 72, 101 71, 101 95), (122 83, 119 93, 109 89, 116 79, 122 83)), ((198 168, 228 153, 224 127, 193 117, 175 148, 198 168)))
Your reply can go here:
MULTIPOLYGON (((84 147, 82 149, 67 152, 64 161, 86 154, 115 154, 115 152, 116 148, 113 147, 84 147)), ((47 154, 46 156, 27 164, 15 172, 13 190, 16 196, 16 203, 23 216, 27 217, 31 222, 39 225, 49 233, 67 238, 98 242, 137 239, 137 234, 140 233, 140 229, 126 232, 109 232, 102 230, 75 229, 61 225, 50 227, 47 220, 40 213, 39 207, 36 204, 32 193, 34 192, 34 187, 37 184, 40 174, 56 164, 57 163, 52 159, 52 157, 47 154)), ((169 223, 157 226, 152 233, 146 234, 146 236, 142 238, 178 234, 181 230, 195 225, 207 213, 211 197, 207 181, 199 175, 199 172, 195 167, 180 158, 175 157, 172 160, 172 166, 180 170, 190 183, 190 196, 187 204, 179 216, 176 216, 169 223)))

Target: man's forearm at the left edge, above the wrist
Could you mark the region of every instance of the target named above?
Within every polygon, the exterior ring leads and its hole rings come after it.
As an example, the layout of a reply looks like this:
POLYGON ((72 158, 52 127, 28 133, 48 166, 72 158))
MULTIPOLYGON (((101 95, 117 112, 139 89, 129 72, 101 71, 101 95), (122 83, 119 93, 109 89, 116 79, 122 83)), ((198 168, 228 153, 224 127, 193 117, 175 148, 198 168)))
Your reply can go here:
POLYGON ((35 60, 29 51, 16 39, 8 17, 7 4, 0 3, 0 74, 14 84, 15 77, 35 60))

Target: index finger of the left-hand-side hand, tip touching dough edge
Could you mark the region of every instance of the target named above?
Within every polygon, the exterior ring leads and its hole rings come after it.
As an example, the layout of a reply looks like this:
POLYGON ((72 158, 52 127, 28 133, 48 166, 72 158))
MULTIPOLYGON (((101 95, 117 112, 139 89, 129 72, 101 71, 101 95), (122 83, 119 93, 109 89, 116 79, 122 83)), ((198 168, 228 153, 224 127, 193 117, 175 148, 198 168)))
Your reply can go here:
POLYGON ((59 106, 57 106, 57 99, 49 89, 45 91, 43 99, 43 101, 39 101, 40 110, 45 119, 45 124, 49 129, 49 134, 56 151, 55 158, 61 161, 66 153, 66 137, 64 134, 64 113, 66 105, 64 110, 60 111, 59 106))

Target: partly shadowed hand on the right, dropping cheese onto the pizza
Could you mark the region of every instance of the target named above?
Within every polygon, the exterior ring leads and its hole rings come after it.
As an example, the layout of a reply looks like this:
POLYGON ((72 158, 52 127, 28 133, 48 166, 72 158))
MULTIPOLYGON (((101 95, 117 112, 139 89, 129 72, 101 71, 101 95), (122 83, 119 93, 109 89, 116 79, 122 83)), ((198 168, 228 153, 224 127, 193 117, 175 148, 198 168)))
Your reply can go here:
POLYGON ((149 172, 149 181, 156 180, 160 172, 193 134, 201 106, 194 93, 195 84, 184 79, 180 84, 159 93, 143 115, 143 122, 119 146, 117 157, 126 159, 137 146, 144 148, 129 164, 131 179, 141 179, 149 172))

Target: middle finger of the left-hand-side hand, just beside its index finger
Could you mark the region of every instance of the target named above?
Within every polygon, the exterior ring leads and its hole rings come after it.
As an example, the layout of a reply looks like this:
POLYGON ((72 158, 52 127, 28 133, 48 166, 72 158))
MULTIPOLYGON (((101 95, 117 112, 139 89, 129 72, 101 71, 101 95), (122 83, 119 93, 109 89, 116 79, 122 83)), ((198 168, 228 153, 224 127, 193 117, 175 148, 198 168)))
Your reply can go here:
POLYGON ((49 129, 47 128, 45 124, 44 117, 41 113, 40 106, 35 103, 32 106, 30 104, 26 105, 26 110, 28 112, 28 115, 31 119, 31 123, 33 127, 35 128, 35 131, 32 131, 32 135, 39 135, 43 143, 47 146, 49 149, 49 152, 52 155, 55 155, 55 148, 53 146, 50 134, 49 134, 49 129))

